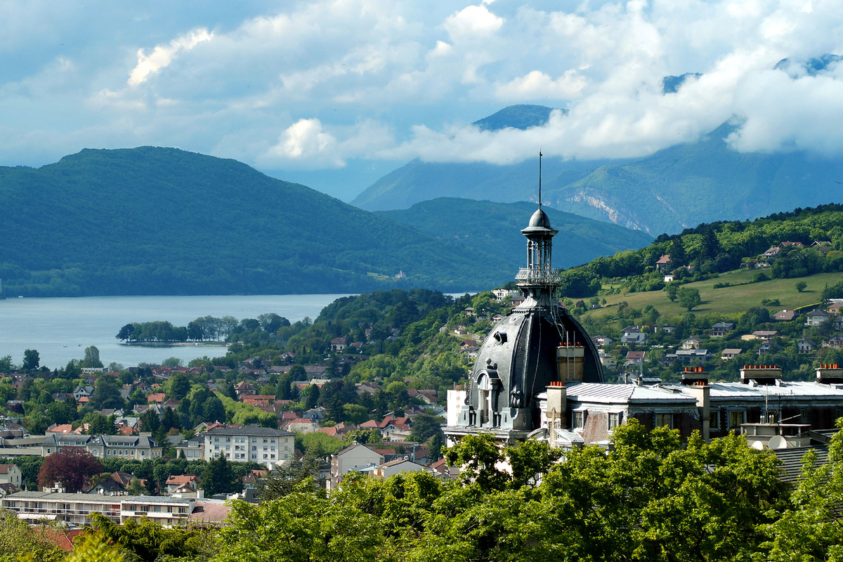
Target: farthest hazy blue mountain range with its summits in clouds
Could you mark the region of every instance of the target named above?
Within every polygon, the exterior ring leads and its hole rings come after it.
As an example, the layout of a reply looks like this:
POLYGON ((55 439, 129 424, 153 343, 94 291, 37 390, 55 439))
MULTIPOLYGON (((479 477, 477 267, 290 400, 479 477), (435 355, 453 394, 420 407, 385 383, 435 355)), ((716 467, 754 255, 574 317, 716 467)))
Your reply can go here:
MULTIPOLYGON (((545 110, 549 115, 550 108, 545 110)), ((503 126, 507 115, 494 120, 495 128, 503 126)), ((513 112, 514 124, 522 123, 518 115, 513 112)), ((540 114, 532 115, 531 122, 543 122, 540 114)), ((837 183, 843 181, 843 162, 799 152, 738 153, 725 142, 734 130, 735 126, 723 124, 698 142, 646 158, 586 162, 545 158, 543 197, 562 211, 652 235, 676 233, 699 222, 745 220, 843 200, 843 185, 837 183)), ((497 166, 414 160, 379 179, 352 205, 386 211, 440 196, 535 200, 537 168, 534 161, 497 166)))

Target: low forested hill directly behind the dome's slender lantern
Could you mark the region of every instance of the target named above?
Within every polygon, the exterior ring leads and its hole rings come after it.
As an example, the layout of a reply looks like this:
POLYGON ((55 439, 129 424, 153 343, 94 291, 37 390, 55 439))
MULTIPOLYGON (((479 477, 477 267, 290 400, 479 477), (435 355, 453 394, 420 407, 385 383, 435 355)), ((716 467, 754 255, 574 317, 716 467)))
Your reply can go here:
MULTIPOLYGON (((525 238, 519 232, 536 209, 534 203, 493 203, 442 197, 416 203, 402 211, 378 214, 443 240, 507 260, 513 274, 524 267, 525 238)), ((559 231, 554 238, 553 263, 568 268, 600 255, 638 249, 652 242, 640 231, 577 217, 545 207, 550 224, 559 231)), ((485 267, 485 265, 483 265, 485 267)))

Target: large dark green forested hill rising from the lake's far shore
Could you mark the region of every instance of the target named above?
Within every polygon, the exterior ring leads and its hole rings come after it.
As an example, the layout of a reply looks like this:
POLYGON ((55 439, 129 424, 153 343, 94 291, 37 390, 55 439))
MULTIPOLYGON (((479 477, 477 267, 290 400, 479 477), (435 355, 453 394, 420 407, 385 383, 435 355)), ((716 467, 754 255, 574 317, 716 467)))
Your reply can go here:
POLYGON ((506 260, 175 148, 0 168, 0 201, 6 295, 459 291, 511 275, 506 260))

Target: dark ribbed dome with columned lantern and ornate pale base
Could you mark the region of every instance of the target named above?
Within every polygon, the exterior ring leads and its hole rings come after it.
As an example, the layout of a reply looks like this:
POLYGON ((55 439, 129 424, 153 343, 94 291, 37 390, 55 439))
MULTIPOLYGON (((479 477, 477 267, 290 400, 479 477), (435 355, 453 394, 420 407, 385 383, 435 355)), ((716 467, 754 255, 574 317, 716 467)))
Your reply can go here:
POLYGON ((483 341, 468 391, 448 393, 444 432, 450 440, 482 432, 501 442, 524 441, 543 419, 546 426, 548 387, 604 382, 597 348, 556 300, 560 272, 553 269, 551 246, 557 232, 540 203, 521 231, 527 267, 515 280, 524 302, 483 341))

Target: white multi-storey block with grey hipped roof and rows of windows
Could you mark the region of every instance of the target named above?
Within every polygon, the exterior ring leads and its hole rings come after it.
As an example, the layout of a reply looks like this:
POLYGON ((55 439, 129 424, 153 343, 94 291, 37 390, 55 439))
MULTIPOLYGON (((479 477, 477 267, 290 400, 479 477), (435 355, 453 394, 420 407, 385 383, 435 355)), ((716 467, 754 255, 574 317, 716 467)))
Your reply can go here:
POLYGON ((264 463, 272 468, 293 457, 295 449, 289 431, 260 427, 251 424, 245 427, 217 427, 204 434, 205 458, 224 455, 233 461, 264 463))

